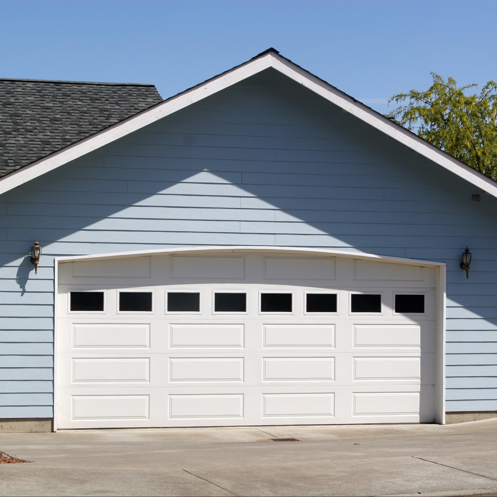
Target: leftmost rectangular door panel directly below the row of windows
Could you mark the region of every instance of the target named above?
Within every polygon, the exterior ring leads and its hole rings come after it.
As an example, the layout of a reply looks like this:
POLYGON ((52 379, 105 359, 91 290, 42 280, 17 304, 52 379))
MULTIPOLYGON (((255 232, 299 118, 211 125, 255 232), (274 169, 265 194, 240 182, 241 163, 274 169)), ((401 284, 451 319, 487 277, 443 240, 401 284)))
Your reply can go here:
POLYGON ((149 348, 150 325, 73 324, 73 348, 149 348))

